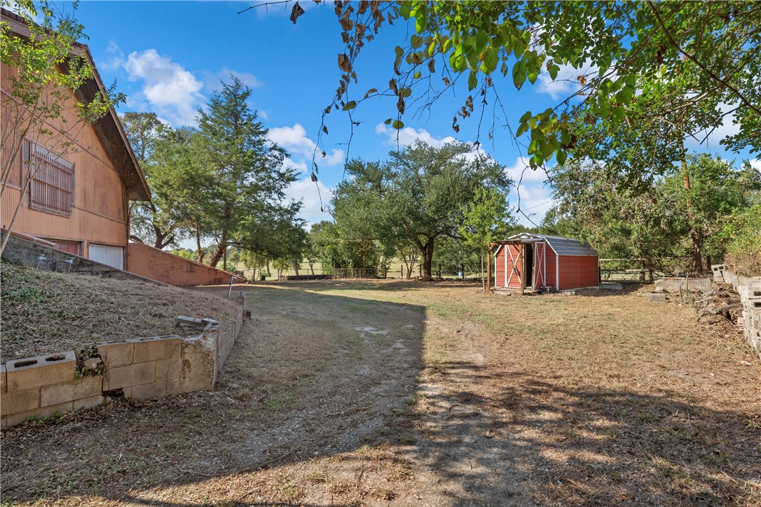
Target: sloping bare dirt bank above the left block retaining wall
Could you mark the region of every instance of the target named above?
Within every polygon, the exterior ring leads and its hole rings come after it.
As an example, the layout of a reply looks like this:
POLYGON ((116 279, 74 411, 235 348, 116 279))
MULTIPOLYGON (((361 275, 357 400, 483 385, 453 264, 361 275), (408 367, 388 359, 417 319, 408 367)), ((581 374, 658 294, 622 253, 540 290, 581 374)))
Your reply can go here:
POLYGON ((103 341, 196 333, 174 327, 177 315, 228 321, 237 311, 227 291, 212 294, 137 280, 64 274, 3 262, 0 266, 2 362, 77 350, 103 341))

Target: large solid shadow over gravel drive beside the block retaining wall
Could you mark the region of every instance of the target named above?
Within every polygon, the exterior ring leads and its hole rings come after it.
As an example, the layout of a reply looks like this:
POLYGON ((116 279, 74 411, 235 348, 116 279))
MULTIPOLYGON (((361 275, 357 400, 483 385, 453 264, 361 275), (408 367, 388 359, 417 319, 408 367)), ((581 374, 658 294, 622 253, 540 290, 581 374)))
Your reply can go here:
MULTIPOLYGON (((207 291, 226 296, 228 287, 207 291)), ((352 452, 409 409, 422 369, 424 307, 293 285, 248 291, 255 318, 214 391, 4 430, 3 499, 190 505, 145 494, 352 452)), ((267 503, 290 501, 278 494, 265 495, 267 503)))

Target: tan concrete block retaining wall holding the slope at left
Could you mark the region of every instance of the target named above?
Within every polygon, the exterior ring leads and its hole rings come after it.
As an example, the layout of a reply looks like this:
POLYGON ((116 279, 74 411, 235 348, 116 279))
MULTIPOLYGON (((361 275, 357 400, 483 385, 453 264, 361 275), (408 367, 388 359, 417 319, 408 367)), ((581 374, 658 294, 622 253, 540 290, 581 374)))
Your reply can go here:
POLYGON ((73 350, 8 361, 0 372, 0 426, 95 407, 113 391, 138 400, 210 391, 243 328, 244 312, 240 306, 232 322, 212 322, 196 337, 98 344, 94 375, 78 372, 73 350))

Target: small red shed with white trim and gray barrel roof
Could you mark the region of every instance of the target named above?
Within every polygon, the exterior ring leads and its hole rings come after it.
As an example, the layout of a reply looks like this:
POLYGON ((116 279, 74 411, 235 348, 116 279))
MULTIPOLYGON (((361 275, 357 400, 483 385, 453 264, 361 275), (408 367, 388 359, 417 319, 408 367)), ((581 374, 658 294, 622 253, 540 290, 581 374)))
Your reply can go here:
POLYGON ((497 288, 567 290, 600 284, 600 261, 589 243, 522 233, 495 244, 498 245, 494 272, 497 288))

